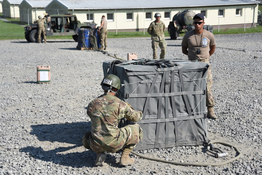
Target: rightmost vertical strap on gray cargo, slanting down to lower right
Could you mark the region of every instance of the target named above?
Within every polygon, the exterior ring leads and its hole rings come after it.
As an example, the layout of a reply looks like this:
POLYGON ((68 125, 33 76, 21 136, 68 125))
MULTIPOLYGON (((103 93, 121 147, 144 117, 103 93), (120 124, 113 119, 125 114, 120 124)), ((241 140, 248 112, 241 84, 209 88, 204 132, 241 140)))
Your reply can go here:
MULTIPOLYGON (((183 75, 182 75, 181 69, 179 69, 179 78, 180 78, 180 84, 181 84, 181 91, 184 92, 185 86, 184 86, 183 75)), ((188 99, 187 99, 187 95, 183 94, 183 98, 184 98, 184 101, 185 101, 185 105, 186 105, 188 114, 189 114, 189 116, 192 116, 192 112, 191 112, 191 108, 190 108, 190 105, 189 105, 189 102, 188 102, 188 99)), ((198 132, 196 130, 195 121, 191 120, 191 123, 192 123, 193 129, 194 129, 194 132, 195 132, 196 142, 198 143, 199 142, 199 136, 198 136, 198 132)))

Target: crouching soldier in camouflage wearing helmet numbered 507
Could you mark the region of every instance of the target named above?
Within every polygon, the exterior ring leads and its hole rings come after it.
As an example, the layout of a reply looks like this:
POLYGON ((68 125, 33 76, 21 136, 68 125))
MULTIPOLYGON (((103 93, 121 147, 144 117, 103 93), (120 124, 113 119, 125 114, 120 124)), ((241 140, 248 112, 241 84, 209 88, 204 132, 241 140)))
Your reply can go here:
POLYGON ((97 153, 95 166, 103 166, 105 152, 117 152, 123 148, 119 165, 134 163, 129 153, 143 138, 143 131, 136 123, 118 128, 120 119, 137 122, 142 119, 142 112, 136 112, 128 103, 115 96, 120 89, 120 79, 109 74, 101 82, 104 94, 92 100, 87 107, 91 118, 91 131, 85 133, 82 142, 87 149, 97 153))

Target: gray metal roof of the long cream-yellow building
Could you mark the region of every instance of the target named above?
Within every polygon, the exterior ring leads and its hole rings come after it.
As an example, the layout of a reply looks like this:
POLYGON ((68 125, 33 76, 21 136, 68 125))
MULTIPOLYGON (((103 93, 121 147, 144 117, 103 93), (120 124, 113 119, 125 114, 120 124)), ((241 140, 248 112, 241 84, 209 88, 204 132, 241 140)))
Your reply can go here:
MULTIPOLYGON (((68 9, 141 9, 256 4, 252 0, 53 0, 68 9)), ((51 3, 48 5, 50 6, 51 3)), ((48 7, 47 6, 47 7, 48 7)))

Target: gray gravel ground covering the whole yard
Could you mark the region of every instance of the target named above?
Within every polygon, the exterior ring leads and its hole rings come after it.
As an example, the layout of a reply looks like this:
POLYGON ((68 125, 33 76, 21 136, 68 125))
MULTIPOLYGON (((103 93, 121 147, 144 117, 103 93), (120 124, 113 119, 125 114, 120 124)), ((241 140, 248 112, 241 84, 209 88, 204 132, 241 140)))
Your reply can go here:
MULTIPOLYGON (((133 166, 118 165, 119 153, 107 153, 104 167, 94 167, 96 154, 81 137, 90 130, 86 107, 102 93, 102 63, 114 58, 102 52, 77 50, 72 40, 47 44, 1 40, 0 175, 2 174, 262 174, 261 46, 262 33, 215 35, 211 56, 213 95, 218 119, 207 119, 209 139, 238 147, 243 156, 223 166, 176 166, 135 155, 133 166), (36 66, 50 65, 51 83, 36 83, 36 66)), ((166 57, 187 59, 182 38, 166 37, 166 57)), ((152 58, 150 38, 108 39, 108 52, 126 59, 152 58)), ((159 51, 160 54, 160 51, 159 51)), ((203 146, 152 149, 139 153, 175 162, 220 163, 203 146)))

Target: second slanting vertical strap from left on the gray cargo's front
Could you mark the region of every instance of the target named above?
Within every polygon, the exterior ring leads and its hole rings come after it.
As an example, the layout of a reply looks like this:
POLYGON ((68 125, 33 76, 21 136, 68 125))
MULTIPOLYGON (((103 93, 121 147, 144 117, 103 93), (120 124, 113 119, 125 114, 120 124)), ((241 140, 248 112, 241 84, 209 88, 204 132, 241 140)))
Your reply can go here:
MULTIPOLYGON (((165 71, 163 73, 163 77, 162 77, 162 81, 161 81, 161 85, 160 85, 160 90, 159 92, 164 92, 164 85, 165 85, 165 77, 167 75, 167 71, 165 71)), ((158 100, 158 111, 157 111, 157 119, 161 119, 161 109, 162 109, 162 97, 159 97, 158 100)), ((160 130, 160 123, 156 124, 156 141, 155 141, 155 147, 158 145, 158 141, 159 141, 159 130, 160 130)))

